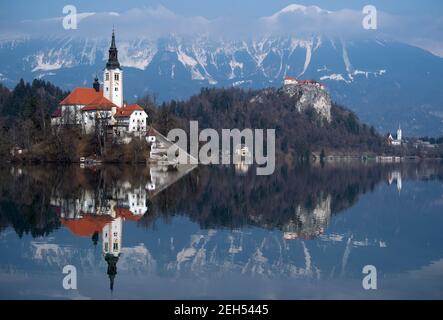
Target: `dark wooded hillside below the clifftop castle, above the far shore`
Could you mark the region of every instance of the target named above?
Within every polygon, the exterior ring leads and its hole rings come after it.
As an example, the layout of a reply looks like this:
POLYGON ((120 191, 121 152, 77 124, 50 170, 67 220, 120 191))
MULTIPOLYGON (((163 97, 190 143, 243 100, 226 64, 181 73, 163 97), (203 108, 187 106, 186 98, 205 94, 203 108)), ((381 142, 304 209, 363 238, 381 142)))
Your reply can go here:
POLYGON ((327 122, 314 108, 298 111, 294 107, 297 99, 277 89, 202 89, 189 100, 163 103, 157 124, 163 133, 177 125, 187 128, 190 120, 197 120, 200 128, 216 130, 275 129, 276 150, 297 157, 322 150, 382 151, 383 138, 352 111, 332 103, 331 121, 327 122))

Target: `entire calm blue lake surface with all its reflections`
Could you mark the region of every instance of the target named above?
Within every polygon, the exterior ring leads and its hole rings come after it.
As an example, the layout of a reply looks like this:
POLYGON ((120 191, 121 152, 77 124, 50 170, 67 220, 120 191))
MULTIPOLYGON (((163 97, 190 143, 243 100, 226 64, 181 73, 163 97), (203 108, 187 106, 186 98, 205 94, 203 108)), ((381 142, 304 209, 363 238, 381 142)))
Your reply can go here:
POLYGON ((442 164, 0 175, 2 299, 443 298, 442 164))

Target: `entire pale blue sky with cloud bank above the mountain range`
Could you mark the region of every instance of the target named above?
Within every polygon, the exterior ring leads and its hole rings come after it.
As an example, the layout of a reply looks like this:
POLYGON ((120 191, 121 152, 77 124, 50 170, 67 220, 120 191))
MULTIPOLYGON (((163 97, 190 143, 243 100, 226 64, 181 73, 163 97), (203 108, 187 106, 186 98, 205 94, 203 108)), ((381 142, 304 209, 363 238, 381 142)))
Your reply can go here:
POLYGON ((443 56, 442 0, 0 0, 0 38, 63 33, 61 20, 54 18, 62 16, 66 4, 76 6, 79 13, 94 13, 83 15, 79 23, 77 34, 86 37, 108 36, 106 29, 113 24, 120 39, 170 33, 247 37, 321 32, 344 37, 377 35, 443 56), (269 19, 294 3, 316 5, 333 14, 312 11, 269 19), (367 4, 379 12, 379 28, 372 34, 361 27, 361 10, 367 4))

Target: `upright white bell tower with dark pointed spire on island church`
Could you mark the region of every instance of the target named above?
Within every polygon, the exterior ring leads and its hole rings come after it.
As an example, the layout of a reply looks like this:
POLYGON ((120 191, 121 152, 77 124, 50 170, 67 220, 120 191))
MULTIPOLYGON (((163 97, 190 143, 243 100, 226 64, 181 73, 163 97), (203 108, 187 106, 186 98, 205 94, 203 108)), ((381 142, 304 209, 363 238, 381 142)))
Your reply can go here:
POLYGON ((118 62, 114 30, 112 30, 108 62, 103 73, 103 96, 118 107, 123 106, 123 70, 118 62))

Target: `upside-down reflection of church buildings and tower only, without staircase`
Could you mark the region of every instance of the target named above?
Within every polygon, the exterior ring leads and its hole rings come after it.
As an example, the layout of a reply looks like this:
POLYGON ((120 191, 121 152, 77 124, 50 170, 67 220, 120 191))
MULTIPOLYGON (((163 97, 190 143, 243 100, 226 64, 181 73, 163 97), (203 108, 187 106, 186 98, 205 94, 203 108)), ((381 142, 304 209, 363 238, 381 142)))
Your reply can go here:
POLYGON ((102 195, 83 189, 78 198, 52 197, 51 205, 60 217, 60 222, 75 236, 91 237, 97 244, 100 234, 102 253, 106 261, 110 289, 114 288, 122 240, 123 222, 138 221, 147 212, 147 192, 144 187, 133 188, 129 182, 112 189, 110 195, 102 195))

